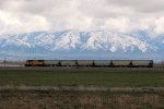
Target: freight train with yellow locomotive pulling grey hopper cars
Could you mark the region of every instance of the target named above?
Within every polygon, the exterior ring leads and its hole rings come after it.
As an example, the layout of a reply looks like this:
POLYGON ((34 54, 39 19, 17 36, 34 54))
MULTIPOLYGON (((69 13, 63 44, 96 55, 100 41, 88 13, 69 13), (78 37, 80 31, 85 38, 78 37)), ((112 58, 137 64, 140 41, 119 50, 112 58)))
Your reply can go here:
POLYGON ((25 66, 153 68, 153 60, 27 60, 25 66))

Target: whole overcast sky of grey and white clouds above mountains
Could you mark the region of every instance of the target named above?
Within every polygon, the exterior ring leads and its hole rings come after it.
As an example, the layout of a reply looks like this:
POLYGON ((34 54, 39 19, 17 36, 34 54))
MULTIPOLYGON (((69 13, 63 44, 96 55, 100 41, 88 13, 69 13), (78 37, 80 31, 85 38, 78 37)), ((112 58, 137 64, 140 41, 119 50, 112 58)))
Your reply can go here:
POLYGON ((0 35, 38 31, 164 34, 164 0, 0 0, 0 35))

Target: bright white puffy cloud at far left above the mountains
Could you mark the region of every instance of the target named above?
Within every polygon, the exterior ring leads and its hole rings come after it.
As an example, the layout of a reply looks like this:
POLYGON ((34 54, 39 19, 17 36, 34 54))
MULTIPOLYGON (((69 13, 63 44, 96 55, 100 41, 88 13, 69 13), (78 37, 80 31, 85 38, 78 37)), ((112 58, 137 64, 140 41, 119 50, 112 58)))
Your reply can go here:
POLYGON ((33 31, 48 31, 49 23, 45 17, 0 11, 0 34, 19 34, 33 31))

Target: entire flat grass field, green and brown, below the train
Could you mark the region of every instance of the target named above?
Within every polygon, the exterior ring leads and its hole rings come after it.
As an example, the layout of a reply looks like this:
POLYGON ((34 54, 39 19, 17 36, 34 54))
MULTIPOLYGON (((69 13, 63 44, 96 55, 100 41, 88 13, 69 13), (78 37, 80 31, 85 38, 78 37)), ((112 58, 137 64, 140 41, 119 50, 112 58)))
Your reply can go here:
POLYGON ((164 109, 164 70, 0 68, 0 109, 164 109))

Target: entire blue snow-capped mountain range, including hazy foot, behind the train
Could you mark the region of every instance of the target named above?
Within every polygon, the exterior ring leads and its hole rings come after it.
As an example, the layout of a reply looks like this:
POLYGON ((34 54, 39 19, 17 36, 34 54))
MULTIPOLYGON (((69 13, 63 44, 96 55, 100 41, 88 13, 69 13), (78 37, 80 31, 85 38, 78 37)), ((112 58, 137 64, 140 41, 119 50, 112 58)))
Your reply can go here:
POLYGON ((17 59, 162 59, 164 37, 95 32, 35 32, 0 36, 0 58, 17 59))

